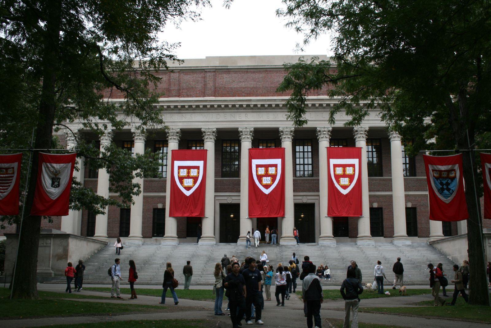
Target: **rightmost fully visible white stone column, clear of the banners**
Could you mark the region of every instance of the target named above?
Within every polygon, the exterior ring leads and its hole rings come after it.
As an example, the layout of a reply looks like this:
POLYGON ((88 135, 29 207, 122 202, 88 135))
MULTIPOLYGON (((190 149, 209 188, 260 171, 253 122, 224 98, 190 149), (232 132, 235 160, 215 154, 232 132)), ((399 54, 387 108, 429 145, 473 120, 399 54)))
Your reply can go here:
POLYGON ((392 210, 394 218, 394 245, 410 245, 406 230, 406 199, 404 195, 404 170, 402 164, 401 136, 389 132, 390 164, 392 169, 392 210))

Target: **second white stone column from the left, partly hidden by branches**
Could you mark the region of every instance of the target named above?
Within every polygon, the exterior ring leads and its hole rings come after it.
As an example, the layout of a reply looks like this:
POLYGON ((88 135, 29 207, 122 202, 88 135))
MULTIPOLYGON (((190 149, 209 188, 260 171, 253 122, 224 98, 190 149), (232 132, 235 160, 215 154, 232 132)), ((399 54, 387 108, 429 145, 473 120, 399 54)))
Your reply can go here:
MULTIPOLYGON (((109 145, 112 140, 112 131, 108 130, 100 137, 101 140, 101 153, 104 153, 105 146, 109 145)), ((105 167, 99 169, 99 175, 97 178, 97 194, 104 198, 109 198, 109 170, 105 167)), ((98 214, 95 217, 95 234, 94 238, 98 240, 108 241, 108 208, 105 209, 106 213, 98 214)))

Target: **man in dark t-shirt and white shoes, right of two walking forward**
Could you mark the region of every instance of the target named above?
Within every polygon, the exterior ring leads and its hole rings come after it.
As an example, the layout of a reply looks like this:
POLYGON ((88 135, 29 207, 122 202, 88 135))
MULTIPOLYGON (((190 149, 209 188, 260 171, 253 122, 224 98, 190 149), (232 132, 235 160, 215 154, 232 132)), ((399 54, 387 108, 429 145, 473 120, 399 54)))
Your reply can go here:
POLYGON ((246 324, 252 325, 251 305, 254 304, 256 309, 256 324, 263 325, 261 321, 261 303, 263 302, 263 293, 261 293, 261 272, 256 269, 256 260, 249 258, 249 268, 242 272, 246 280, 246 324))

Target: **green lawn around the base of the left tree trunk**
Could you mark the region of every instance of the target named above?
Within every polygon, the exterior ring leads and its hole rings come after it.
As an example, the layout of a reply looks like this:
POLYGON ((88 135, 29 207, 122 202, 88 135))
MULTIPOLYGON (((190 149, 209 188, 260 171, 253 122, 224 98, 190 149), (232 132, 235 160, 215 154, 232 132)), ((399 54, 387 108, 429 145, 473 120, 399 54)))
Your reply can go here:
POLYGON ((0 289, 0 318, 23 319, 31 317, 77 316, 97 314, 117 314, 125 312, 158 312, 160 305, 119 304, 114 302, 84 302, 62 300, 63 298, 87 299, 87 295, 39 292, 41 300, 10 300, 9 290, 0 289))

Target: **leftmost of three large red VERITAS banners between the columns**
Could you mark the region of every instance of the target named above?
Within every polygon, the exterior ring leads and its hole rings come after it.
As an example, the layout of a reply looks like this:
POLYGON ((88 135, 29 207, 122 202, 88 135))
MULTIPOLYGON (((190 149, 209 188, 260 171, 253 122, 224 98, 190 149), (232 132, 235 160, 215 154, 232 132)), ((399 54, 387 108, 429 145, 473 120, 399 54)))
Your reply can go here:
POLYGON ((205 216, 206 153, 206 149, 172 150, 169 217, 205 216))

